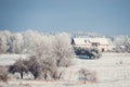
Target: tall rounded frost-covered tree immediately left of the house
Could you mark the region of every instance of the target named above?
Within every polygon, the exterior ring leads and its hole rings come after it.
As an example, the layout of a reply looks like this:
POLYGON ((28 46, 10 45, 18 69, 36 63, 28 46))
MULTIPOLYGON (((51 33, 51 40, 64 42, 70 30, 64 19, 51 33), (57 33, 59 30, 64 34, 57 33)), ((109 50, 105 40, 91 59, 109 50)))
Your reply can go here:
POLYGON ((74 54, 69 35, 66 33, 55 35, 52 46, 56 65, 68 66, 68 62, 70 62, 70 58, 74 54))

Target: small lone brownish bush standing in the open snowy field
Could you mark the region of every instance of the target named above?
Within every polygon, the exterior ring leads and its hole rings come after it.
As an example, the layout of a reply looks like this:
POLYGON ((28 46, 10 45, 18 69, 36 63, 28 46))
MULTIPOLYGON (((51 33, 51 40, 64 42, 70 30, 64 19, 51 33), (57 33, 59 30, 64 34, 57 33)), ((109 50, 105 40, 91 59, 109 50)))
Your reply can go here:
POLYGON ((80 80, 83 79, 83 84, 87 82, 96 82, 96 73, 87 69, 80 69, 78 71, 80 80))

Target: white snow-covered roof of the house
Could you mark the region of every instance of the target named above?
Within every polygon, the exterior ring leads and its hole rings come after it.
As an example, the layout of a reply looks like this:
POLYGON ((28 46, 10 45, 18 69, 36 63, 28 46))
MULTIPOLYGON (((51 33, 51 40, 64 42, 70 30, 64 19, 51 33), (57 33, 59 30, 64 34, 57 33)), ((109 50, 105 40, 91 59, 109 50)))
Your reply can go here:
POLYGON ((99 42, 100 45, 108 45, 106 38, 74 38, 75 45, 91 45, 91 42, 99 42))

